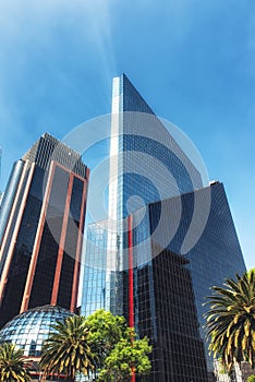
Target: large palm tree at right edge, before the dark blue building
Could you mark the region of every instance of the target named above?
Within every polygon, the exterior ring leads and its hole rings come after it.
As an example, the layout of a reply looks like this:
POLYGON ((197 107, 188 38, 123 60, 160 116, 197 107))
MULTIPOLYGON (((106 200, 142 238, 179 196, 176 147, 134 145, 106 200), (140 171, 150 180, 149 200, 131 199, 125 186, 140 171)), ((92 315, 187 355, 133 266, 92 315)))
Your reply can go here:
POLYGON ((212 287, 205 314, 210 338, 209 349, 230 370, 234 362, 255 363, 255 268, 226 279, 223 287, 212 287))

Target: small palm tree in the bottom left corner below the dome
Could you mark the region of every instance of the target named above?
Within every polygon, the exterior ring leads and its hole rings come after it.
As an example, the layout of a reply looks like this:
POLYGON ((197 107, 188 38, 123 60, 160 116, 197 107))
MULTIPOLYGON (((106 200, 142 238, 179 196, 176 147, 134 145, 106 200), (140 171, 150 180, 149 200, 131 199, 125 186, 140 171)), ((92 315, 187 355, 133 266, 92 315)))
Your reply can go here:
POLYGON ((0 382, 31 381, 28 366, 22 349, 10 343, 0 345, 0 382))

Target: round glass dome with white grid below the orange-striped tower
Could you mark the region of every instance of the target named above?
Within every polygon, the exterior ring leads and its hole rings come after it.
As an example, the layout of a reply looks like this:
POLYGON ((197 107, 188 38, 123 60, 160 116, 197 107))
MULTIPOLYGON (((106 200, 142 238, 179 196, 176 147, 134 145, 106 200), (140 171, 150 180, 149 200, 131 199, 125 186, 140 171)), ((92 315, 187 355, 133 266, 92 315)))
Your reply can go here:
POLYGON ((24 349, 24 356, 39 357, 44 341, 48 338, 51 325, 73 315, 57 306, 44 306, 27 310, 9 321, 0 331, 0 343, 12 343, 24 349))

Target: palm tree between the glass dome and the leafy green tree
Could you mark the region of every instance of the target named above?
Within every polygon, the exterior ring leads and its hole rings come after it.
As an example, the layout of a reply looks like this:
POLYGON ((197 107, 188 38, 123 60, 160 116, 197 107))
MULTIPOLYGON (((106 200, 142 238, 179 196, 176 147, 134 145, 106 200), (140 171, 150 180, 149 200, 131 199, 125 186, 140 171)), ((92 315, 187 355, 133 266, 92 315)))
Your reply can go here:
POLYGON ((73 315, 57 321, 42 346, 40 367, 44 375, 64 374, 74 380, 76 373, 89 374, 95 359, 87 343, 89 330, 83 317, 73 315))

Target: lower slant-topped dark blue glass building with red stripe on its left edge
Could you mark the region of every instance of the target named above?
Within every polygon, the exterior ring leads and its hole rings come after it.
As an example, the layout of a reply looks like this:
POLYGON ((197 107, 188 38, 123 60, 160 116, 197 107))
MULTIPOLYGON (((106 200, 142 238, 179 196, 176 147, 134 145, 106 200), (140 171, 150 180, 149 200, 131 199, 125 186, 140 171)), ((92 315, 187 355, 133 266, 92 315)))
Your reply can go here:
MULTIPOLYGON (((174 251, 180 255, 182 251, 194 216, 194 208, 202 210, 201 213, 203 213, 203 203, 196 205, 194 203, 197 194, 199 194, 201 201, 207 200, 210 195, 210 211, 204 230, 199 231, 195 244, 187 251, 185 258, 189 260, 187 267, 192 276, 199 335, 205 342, 206 349, 208 344, 205 338, 203 314, 208 307, 204 306, 205 296, 211 294, 210 287, 212 285, 222 285, 224 278, 233 277, 236 272, 239 274, 245 272, 233 219, 223 186, 220 182, 214 182, 207 188, 148 204, 146 213, 143 212, 145 218, 142 223, 139 223, 141 211, 131 215, 129 235, 132 239, 129 242, 132 243, 130 252, 133 271, 125 271, 124 296, 126 296, 126 303, 124 313, 129 318, 133 315, 134 325, 138 333, 147 335, 153 341, 155 348, 153 360, 160 360, 162 370, 167 370, 166 362, 169 362, 168 368, 171 365, 171 356, 168 355, 170 350, 167 349, 172 349, 174 354, 181 354, 178 344, 172 343, 173 325, 181 325, 183 336, 186 334, 186 338, 189 336, 192 338, 191 333, 187 333, 192 324, 184 323, 185 319, 192 320, 192 313, 190 315, 187 313, 186 318, 185 308, 182 307, 181 302, 183 300, 184 306, 189 307, 185 301, 184 279, 183 283, 180 282, 175 291, 179 295, 178 300, 171 295, 173 294, 173 280, 179 277, 179 273, 173 270, 169 274, 168 262, 171 261, 170 252, 174 251), (181 215, 179 215, 179 211, 181 211, 181 215), (160 223, 162 215, 169 216, 169 218, 160 223), (178 228, 175 229, 175 227, 178 228), (160 267, 157 265, 158 262, 161 264, 160 267), (177 305, 180 311, 178 311, 177 305), (171 309, 175 309, 174 317, 169 313, 171 309)), ((195 235, 195 232, 194 230, 193 234, 195 235)), ((192 312, 192 309, 189 309, 192 312)), ((184 344, 184 339, 182 343, 184 344)), ((212 358, 208 356, 208 351, 206 354, 208 371, 212 372, 212 358)), ((153 368, 155 375, 158 372, 157 362, 153 368)), ((161 369, 159 368, 159 370, 161 369)), ((163 381, 163 379, 159 380, 163 381)), ((185 381, 186 379, 181 377, 166 379, 166 381, 179 380, 185 381)), ((157 381, 157 378, 155 377, 151 381, 157 381)))

